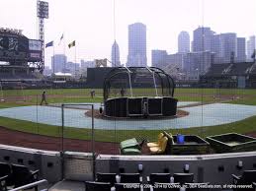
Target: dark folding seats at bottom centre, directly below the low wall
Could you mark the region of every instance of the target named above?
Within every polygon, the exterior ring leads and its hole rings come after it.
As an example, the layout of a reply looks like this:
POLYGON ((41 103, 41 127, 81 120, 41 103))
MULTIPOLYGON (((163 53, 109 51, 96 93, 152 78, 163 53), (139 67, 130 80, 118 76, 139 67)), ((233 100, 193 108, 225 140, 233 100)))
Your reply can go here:
MULTIPOLYGON (((209 182, 194 182, 194 173, 174 173, 173 176, 170 173, 150 173, 148 176, 145 176, 143 181, 139 173, 100 173, 96 174, 96 181, 99 184, 94 182, 89 182, 91 189, 97 190, 98 188, 104 188, 115 191, 163 191, 163 190, 173 190, 178 191, 181 187, 188 191, 209 191, 209 182), (108 183, 108 184, 104 184, 108 183), (105 186, 107 185, 107 186, 105 186)), ((87 183, 88 184, 88 183, 87 183)), ((256 185, 256 183, 255 183, 256 185)), ((182 189, 181 189, 182 190, 182 189)), ((87 191, 87 190, 86 190, 87 191)))

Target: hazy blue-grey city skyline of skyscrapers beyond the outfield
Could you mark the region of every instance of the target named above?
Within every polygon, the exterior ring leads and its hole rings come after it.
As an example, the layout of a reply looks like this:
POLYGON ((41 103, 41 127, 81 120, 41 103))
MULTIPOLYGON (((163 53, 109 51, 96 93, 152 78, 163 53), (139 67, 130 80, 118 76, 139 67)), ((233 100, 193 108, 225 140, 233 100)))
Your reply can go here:
MULTIPOLYGON (((145 52, 145 46, 146 46, 146 34, 141 33, 140 31, 145 31, 145 26, 141 23, 131 24, 128 26, 128 30, 130 32, 130 35, 132 36, 129 42, 129 56, 131 57, 131 60, 133 59, 133 56, 136 57, 136 54, 145 52), (142 28, 141 28, 142 27, 142 28), (134 29, 133 29, 134 28, 134 29), (141 28, 141 29, 140 29, 141 28), (139 38, 143 38, 142 40, 139 40, 139 38), (138 41, 138 42, 137 42, 138 41), (141 46, 141 47, 140 47, 141 46), (142 48, 142 49, 141 49, 142 48)), ((160 67, 161 63, 163 65, 166 65, 166 62, 164 59, 167 58, 167 60, 170 63, 175 63, 175 60, 177 61, 176 64, 179 64, 179 68, 183 68, 183 60, 182 58, 187 53, 200 53, 204 51, 209 51, 210 53, 213 52, 214 55, 214 62, 215 64, 219 63, 230 63, 231 61, 231 54, 233 53, 233 61, 234 62, 246 62, 251 60, 249 59, 251 56, 246 55, 246 52, 253 52, 252 50, 249 50, 247 47, 246 51, 246 42, 247 46, 250 44, 250 48, 255 49, 255 36, 250 36, 248 40, 246 41, 245 37, 239 37, 236 35, 235 32, 226 32, 226 33, 216 33, 213 32, 211 28, 209 27, 199 27, 198 29, 194 30, 193 39, 190 40, 190 36, 188 32, 180 32, 178 35, 178 49, 180 51, 175 52, 174 54, 167 54, 166 50, 159 50, 159 49, 152 49, 151 50, 151 58, 152 58, 152 66, 160 67), (204 34, 204 35, 203 35, 204 34), (205 36, 205 37, 203 37, 205 36), (254 39, 254 44, 251 44, 252 40, 254 39), (202 42, 204 41, 204 45, 202 46, 202 42), (185 43, 184 43, 185 42, 185 43), (190 51, 190 45, 195 46, 190 51), (167 56, 163 59, 163 57, 167 56), (247 57, 247 58, 246 58, 247 57)), ((56 54, 57 55, 57 54, 56 54)), ((63 54, 62 54, 63 55, 63 54)), ((193 54, 191 54, 193 55, 193 54)), ((140 57, 140 56, 139 56, 140 57)), ((121 66, 120 64, 120 50, 119 45, 117 41, 115 40, 112 45, 112 63, 111 66, 121 66), (117 59, 117 60, 116 60, 117 59), (117 64, 115 64, 115 60, 117 64)), ((133 59, 132 62, 128 64, 127 66, 145 66, 140 65, 140 63, 135 63, 133 59)), ((140 58, 138 59, 140 60, 140 58)), ((81 63, 84 60, 81 60, 81 63)), ((52 60, 51 60, 52 65, 52 60)), ((125 64, 123 64, 125 65, 125 64)))

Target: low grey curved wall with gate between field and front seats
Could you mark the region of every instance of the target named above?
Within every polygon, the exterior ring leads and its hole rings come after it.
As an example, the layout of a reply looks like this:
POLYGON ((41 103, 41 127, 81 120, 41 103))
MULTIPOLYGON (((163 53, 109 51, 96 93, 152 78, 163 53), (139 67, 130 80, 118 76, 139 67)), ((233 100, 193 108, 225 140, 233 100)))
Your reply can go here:
MULTIPOLYGON (((88 153, 49 152, 21 147, 0 145, 0 161, 19 163, 31 169, 40 169, 42 178, 54 183, 62 178, 70 180, 93 179, 93 157, 88 153), (62 158, 63 157, 63 158, 62 158)), ((231 174, 241 174, 245 169, 256 169, 256 152, 214 154, 204 156, 110 156, 99 155, 95 161, 96 172, 137 172, 143 165, 141 175, 153 172, 183 172, 189 165, 196 182, 232 184, 231 174), (242 161, 242 167, 238 162, 242 161)), ((143 180, 145 181, 145 179, 143 180)))

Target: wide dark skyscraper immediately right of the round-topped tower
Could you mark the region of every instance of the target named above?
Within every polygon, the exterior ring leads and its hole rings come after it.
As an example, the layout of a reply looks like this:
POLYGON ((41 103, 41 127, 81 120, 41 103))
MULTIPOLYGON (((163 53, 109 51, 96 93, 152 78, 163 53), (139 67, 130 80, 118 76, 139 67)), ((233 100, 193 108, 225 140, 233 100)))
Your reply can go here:
POLYGON ((193 32, 192 51, 211 51, 211 41, 213 38, 213 31, 211 28, 199 27, 193 32))

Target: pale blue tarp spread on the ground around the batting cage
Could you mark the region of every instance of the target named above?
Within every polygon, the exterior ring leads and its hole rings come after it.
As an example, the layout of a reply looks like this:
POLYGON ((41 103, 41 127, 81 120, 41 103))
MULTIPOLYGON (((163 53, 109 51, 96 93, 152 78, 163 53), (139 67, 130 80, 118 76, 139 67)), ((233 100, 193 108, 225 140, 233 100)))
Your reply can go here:
MULTIPOLYGON (((193 102, 181 102, 186 105, 193 102)), ((256 106, 213 103, 182 108, 190 112, 188 116, 174 119, 110 120, 94 119, 95 129, 170 129, 213 126, 239 121, 256 115, 256 106)), ((64 126, 91 128, 92 119, 85 109, 64 109, 64 126)), ((48 125, 61 126, 61 108, 52 106, 20 106, 0 109, 0 116, 27 120, 48 125)))

